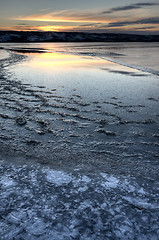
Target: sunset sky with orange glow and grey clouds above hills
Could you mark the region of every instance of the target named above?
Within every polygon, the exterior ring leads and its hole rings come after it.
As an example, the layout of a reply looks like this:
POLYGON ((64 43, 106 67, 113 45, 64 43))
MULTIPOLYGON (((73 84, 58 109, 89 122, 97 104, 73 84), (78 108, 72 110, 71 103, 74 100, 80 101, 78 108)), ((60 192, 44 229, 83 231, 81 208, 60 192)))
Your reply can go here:
POLYGON ((0 30, 159 34, 159 0, 0 0, 0 30))

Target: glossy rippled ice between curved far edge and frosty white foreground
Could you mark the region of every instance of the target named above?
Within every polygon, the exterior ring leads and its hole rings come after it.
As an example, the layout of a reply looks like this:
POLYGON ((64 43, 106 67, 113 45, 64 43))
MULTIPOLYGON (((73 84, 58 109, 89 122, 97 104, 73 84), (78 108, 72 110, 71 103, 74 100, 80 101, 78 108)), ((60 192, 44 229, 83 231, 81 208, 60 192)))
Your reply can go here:
POLYGON ((91 57, 25 56, 2 61, 5 155, 158 177, 158 77, 91 57))

